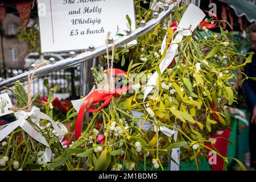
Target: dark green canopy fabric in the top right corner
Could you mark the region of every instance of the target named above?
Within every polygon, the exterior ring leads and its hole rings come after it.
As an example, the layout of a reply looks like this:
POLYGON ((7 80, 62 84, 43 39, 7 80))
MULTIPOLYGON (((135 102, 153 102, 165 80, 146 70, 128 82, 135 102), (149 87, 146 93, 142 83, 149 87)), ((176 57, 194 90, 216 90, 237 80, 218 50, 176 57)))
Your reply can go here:
POLYGON ((249 22, 256 20, 256 6, 247 0, 218 0, 227 3, 236 13, 237 16, 241 17, 245 15, 249 22))

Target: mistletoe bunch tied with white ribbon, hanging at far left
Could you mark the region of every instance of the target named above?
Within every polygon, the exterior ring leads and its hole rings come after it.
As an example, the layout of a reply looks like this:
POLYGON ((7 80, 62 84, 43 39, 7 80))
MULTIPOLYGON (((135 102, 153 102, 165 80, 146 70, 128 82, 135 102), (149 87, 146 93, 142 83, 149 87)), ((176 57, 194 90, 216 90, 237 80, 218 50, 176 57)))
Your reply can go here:
POLYGON ((60 140, 67 133, 66 127, 52 119, 51 102, 53 91, 49 91, 46 113, 33 106, 39 96, 31 97, 31 82, 37 65, 28 75, 28 93, 21 82, 17 81, 13 89, 16 96, 14 111, 16 121, 0 126, 0 170, 43 170, 46 164, 62 154, 60 140))

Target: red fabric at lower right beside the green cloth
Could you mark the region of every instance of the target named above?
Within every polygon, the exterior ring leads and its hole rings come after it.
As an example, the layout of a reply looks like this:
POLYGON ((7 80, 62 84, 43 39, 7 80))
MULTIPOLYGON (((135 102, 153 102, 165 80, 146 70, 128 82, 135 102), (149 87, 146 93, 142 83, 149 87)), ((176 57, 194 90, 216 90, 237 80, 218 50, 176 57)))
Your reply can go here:
MULTIPOLYGON (((222 134, 216 134, 216 135, 214 135, 214 137, 211 137, 211 138, 216 138, 216 137, 223 137, 223 138, 229 139, 230 129, 225 129, 225 130, 223 130, 222 134)), ((213 148, 210 143, 205 143, 205 146, 213 148)), ((225 139, 217 138, 216 143, 213 146, 217 149, 217 151, 222 156, 226 156, 226 154, 228 152, 228 142, 225 139)), ((208 156, 208 159, 210 157, 211 156, 208 156)), ((223 166, 224 166, 224 160, 218 155, 216 155, 216 157, 217 157, 217 163, 216 164, 210 164, 210 167, 213 169, 213 171, 222 171, 223 166)))

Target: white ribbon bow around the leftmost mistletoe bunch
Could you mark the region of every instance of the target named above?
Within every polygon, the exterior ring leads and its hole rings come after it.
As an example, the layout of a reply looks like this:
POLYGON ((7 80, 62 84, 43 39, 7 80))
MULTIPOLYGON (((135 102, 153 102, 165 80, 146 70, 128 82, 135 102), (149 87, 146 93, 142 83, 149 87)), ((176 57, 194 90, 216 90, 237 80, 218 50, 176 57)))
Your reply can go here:
MULTIPOLYGON (((32 110, 30 112, 17 111, 14 113, 14 115, 18 120, 10 124, 1 126, 0 141, 7 137, 7 135, 9 135, 17 127, 21 127, 28 135, 30 135, 30 137, 34 138, 35 140, 46 146, 43 163, 46 164, 47 162, 51 162, 52 151, 49 147, 49 144, 47 143, 46 139, 38 132, 38 130, 31 126, 27 119, 30 118, 31 121, 35 123, 35 125, 37 125, 38 127, 40 127, 40 119, 47 119, 49 122, 51 122, 51 125, 54 129, 52 132, 56 135, 56 137, 64 137, 65 133, 68 132, 67 128, 62 123, 53 121, 53 119, 50 118, 48 115, 42 113, 38 107, 32 107, 32 110)), ((40 128, 42 129, 43 127, 40 128)))

